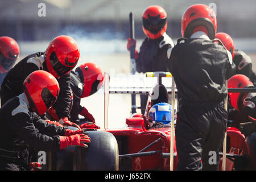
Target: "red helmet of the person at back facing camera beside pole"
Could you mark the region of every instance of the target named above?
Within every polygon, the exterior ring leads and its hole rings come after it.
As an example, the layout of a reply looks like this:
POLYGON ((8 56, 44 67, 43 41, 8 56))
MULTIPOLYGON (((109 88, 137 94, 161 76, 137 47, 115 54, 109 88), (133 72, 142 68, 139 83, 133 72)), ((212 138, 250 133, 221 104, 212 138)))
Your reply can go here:
POLYGON ((150 39, 160 38, 166 32, 167 13, 160 6, 149 6, 142 15, 143 32, 150 39))

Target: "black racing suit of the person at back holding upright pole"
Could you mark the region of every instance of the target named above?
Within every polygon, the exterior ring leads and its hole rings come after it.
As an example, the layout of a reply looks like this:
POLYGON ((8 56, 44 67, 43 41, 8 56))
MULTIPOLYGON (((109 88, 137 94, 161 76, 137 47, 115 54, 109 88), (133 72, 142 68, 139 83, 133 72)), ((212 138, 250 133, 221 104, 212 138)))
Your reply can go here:
MULTIPOLYGON (((158 39, 145 38, 139 49, 139 57, 136 59, 136 71, 146 72, 167 72, 167 50, 174 47, 172 39, 164 33, 158 39)), ((141 94, 141 108, 144 111, 147 104, 147 96, 141 94)))

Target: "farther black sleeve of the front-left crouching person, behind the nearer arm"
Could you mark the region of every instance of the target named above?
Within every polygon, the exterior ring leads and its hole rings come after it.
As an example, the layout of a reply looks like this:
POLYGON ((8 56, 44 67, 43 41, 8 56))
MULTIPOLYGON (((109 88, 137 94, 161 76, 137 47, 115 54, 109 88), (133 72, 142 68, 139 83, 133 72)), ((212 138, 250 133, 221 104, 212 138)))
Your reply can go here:
POLYGON ((44 119, 39 117, 36 113, 32 113, 32 123, 35 125, 36 129, 39 130, 40 133, 53 137, 54 135, 62 135, 65 134, 65 127, 56 126, 54 124, 49 124, 44 119))

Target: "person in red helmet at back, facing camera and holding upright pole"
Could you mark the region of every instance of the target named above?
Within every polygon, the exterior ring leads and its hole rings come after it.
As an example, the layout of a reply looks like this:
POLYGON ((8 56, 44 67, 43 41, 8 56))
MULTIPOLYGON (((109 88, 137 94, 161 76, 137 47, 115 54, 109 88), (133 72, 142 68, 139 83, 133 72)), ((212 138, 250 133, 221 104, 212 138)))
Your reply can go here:
MULTIPOLYGON (((142 30, 147 36, 139 49, 136 40, 128 39, 127 49, 135 46, 136 71, 139 73, 163 71, 167 72, 167 50, 174 47, 174 42, 166 34, 167 13, 160 6, 149 6, 142 15, 142 30)), ((141 95, 141 108, 144 110, 147 96, 141 95)))

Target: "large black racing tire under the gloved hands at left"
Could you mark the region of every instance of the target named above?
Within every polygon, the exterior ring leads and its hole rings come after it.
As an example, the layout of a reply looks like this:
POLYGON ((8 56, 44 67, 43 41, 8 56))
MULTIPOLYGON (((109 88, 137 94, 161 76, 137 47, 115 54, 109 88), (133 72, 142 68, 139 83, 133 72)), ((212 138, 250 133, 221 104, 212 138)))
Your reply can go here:
POLYGON ((76 146, 74 155, 75 171, 118 171, 118 144, 112 133, 86 131, 90 137, 88 148, 76 146))

